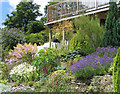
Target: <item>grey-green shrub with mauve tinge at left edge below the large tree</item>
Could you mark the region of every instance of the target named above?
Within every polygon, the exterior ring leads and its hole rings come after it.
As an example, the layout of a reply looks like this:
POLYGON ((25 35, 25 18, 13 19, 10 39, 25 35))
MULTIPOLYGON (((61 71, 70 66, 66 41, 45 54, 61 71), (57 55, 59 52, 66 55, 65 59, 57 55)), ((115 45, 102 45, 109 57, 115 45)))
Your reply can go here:
POLYGON ((17 28, 2 29, 2 47, 4 50, 6 47, 13 49, 13 46, 16 46, 18 43, 23 44, 25 41, 25 35, 21 30, 17 28))

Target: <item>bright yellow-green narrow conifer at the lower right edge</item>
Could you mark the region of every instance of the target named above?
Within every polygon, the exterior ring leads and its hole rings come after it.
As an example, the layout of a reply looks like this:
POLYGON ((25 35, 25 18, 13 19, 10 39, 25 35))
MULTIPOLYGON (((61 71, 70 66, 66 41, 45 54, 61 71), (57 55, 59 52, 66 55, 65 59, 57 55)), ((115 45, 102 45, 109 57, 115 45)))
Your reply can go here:
POLYGON ((120 48, 114 59, 113 65, 113 87, 114 91, 120 93, 120 48))

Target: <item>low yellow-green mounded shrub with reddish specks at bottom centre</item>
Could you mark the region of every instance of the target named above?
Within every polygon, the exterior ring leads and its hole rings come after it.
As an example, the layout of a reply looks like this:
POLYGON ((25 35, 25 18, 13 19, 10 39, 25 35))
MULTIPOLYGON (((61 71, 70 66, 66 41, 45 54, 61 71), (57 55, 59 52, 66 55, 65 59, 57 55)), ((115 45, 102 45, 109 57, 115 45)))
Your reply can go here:
POLYGON ((74 92, 74 90, 71 89, 71 79, 74 79, 74 76, 70 75, 65 70, 53 72, 48 78, 48 92, 74 92))

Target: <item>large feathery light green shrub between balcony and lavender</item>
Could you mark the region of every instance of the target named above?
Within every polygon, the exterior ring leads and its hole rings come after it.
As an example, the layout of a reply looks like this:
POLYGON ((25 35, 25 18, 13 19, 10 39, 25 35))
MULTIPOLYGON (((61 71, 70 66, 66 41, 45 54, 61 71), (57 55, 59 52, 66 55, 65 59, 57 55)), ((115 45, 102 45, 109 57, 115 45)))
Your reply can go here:
POLYGON ((75 29, 77 31, 70 40, 70 49, 80 47, 84 54, 88 55, 95 51, 97 47, 102 46, 104 27, 100 26, 97 18, 89 18, 88 16, 81 16, 73 20, 75 29))

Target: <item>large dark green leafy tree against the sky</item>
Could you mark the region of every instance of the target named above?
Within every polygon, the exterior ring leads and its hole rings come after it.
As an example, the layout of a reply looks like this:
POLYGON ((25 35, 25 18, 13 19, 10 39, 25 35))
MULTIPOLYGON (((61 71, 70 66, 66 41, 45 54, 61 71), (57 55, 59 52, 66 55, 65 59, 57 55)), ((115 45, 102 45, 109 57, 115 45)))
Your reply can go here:
POLYGON ((27 31, 27 24, 29 21, 35 21, 37 16, 42 16, 39 13, 40 5, 33 3, 32 0, 23 0, 17 7, 16 11, 11 13, 11 16, 7 14, 7 19, 3 23, 8 28, 24 28, 24 31, 27 31))

